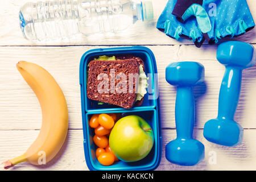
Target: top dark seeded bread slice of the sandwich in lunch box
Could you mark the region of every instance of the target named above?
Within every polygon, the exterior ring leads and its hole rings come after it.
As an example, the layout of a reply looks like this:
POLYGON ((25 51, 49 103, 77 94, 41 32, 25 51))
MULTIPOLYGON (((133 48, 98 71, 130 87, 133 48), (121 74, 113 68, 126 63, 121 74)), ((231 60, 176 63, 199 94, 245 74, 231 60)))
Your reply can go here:
MULTIPOLYGON (((102 61, 102 60, 93 60, 90 61, 88 65, 88 82, 87 82, 87 97, 94 101, 105 102, 108 104, 113 104, 121 106, 123 108, 133 107, 136 100, 135 93, 135 82, 138 81, 135 79, 133 82, 133 93, 129 93, 129 73, 139 73, 139 64, 135 59, 129 60, 116 60, 116 61, 102 61), (126 93, 111 93, 110 92, 110 69, 115 69, 115 76, 118 73, 125 73, 127 80, 127 89, 126 93), (108 93, 99 93, 98 85, 102 80, 98 79, 100 73, 106 73, 109 78, 109 90, 108 93)), ((115 88, 121 80, 115 80, 115 88)))

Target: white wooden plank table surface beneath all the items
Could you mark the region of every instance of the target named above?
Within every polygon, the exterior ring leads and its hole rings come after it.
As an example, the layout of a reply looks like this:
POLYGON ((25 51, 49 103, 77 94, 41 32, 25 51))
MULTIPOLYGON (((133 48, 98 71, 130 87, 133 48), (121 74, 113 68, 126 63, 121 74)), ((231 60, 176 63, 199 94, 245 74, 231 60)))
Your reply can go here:
MULTIPOLYGON (((225 68, 216 60, 216 47, 193 46, 177 42, 155 28, 154 23, 138 23, 122 34, 107 38, 90 36, 80 42, 34 44, 23 38, 19 30, 20 6, 31 0, 0 1, 0 162, 13 158, 30 146, 41 126, 41 109, 30 87, 16 69, 19 60, 31 61, 46 68, 63 89, 69 109, 68 137, 59 154, 46 166, 18 164, 11 170, 88 170, 82 144, 79 63, 82 54, 92 48, 108 46, 147 46, 154 52, 159 72, 163 153, 157 170, 255 170, 256 169, 256 66, 243 72, 241 97, 236 121, 245 131, 242 144, 223 147, 203 137, 204 123, 217 116, 218 92, 225 68), (193 167, 171 164, 165 158, 165 146, 175 139, 175 88, 165 81, 165 68, 174 61, 198 61, 205 67, 205 85, 195 88, 196 123, 194 135, 205 146, 205 159, 193 167), (214 163, 213 157, 216 157, 214 163)), ((160 15, 167 0, 153 0, 160 15)), ((256 20, 256 1, 248 0, 256 20)), ((256 29, 237 38, 256 43, 256 29)), ((1 170, 2 170, 1 166, 1 170)))

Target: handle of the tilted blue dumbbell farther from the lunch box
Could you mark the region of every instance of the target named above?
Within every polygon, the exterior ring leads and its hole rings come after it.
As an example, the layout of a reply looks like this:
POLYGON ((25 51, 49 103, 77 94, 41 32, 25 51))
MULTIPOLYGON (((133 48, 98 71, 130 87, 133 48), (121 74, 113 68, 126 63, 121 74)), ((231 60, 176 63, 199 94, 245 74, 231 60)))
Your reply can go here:
POLYGON ((218 118, 234 119, 240 97, 242 69, 226 66, 218 98, 218 118))

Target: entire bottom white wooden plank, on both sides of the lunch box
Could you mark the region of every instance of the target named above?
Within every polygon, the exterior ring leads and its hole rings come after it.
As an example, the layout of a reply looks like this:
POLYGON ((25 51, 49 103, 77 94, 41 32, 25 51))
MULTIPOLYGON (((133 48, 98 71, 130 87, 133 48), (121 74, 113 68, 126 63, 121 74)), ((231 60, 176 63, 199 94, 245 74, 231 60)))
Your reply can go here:
MULTIPOLYGON (((38 130, 13 130, 0 132, 0 163, 23 154, 38 135, 38 130)), ((162 130, 163 153, 157 170, 255 170, 256 130, 245 130, 243 143, 236 147, 224 147, 208 142, 203 130, 195 130, 194 137, 205 146, 205 159, 192 167, 177 166, 165 158, 165 146, 176 138, 175 130, 162 130), (214 157, 216 156, 216 158, 214 157), (216 162, 216 163, 214 163, 216 162)), ((18 164, 9 170, 88 170, 82 144, 82 130, 69 130, 68 138, 59 154, 46 166, 28 163, 18 164)), ((0 170, 3 170, 2 165, 0 170)))

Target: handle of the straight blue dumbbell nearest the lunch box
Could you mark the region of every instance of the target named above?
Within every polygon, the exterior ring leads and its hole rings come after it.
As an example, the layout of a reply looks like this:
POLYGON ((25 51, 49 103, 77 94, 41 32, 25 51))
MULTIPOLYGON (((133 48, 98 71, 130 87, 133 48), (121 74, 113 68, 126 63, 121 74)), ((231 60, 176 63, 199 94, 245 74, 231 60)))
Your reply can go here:
POLYGON ((195 100, 193 88, 177 86, 175 122, 177 139, 192 139, 195 120, 195 100))

